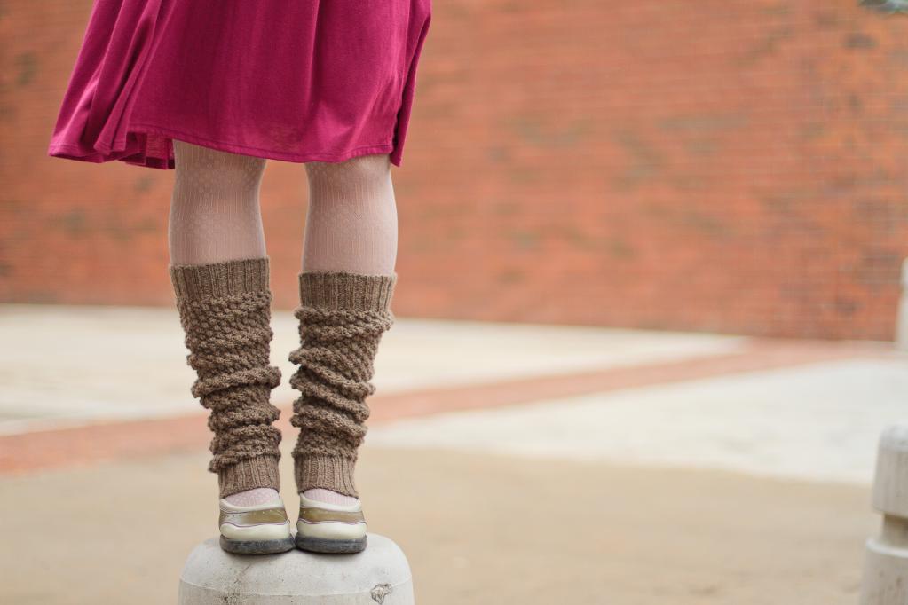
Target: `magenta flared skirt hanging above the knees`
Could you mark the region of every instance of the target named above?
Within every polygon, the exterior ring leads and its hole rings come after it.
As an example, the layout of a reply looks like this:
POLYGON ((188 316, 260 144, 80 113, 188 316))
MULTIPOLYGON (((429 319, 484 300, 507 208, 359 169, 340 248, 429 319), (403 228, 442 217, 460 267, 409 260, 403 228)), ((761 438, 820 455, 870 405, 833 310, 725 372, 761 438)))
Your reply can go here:
POLYGON ((48 153, 400 166, 431 0, 95 0, 48 153))

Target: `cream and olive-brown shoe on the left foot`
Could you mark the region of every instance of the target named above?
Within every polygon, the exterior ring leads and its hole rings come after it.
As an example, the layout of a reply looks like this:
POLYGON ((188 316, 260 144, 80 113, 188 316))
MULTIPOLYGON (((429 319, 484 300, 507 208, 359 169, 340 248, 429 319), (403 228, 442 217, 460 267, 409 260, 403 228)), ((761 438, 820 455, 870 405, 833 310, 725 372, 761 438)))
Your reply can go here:
POLYGON ((221 548, 242 554, 290 551, 293 536, 280 494, 269 503, 237 506, 221 499, 221 548))

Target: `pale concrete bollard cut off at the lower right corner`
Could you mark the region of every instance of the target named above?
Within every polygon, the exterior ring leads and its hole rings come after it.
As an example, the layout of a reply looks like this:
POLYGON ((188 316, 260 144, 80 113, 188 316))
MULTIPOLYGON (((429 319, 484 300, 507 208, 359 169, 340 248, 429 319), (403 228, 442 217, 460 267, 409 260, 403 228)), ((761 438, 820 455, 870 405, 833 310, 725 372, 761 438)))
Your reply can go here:
POLYGON ((883 527, 867 541, 861 605, 908 604, 908 424, 880 437, 873 479, 873 508, 883 527))

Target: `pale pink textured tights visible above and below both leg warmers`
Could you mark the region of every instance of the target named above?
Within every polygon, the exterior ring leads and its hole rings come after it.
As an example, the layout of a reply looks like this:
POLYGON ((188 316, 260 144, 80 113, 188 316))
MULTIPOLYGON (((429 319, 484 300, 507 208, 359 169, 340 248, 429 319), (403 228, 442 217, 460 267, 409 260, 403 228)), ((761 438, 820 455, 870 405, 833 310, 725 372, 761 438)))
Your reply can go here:
MULTIPOLYGON (((266 160, 173 141, 176 176, 168 245, 172 265, 266 257, 259 190, 266 160)), ((387 154, 305 165, 309 208, 301 270, 388 275, 397 259, 398 220, 387 154)), ((323 488, 323 502, 356 499, 323 488)), ((271 500, 255 488, 228 496, 236 505, 271 500)))

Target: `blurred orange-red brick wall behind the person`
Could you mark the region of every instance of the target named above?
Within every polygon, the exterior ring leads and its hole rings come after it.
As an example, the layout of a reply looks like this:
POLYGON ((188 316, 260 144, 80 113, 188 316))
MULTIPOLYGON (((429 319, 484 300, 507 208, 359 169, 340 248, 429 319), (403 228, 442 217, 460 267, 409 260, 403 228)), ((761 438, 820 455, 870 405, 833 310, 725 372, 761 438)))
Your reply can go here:
MULTIPOLYGON (((89 0, 0 4, 0 300, 172 305, 173 171, 46 157, 89 0)), ((908 18, 856 0, 437 0, 395 312, 893 338, 908 18)), ((275 306, 306 186, 262 188, 275 306)))

